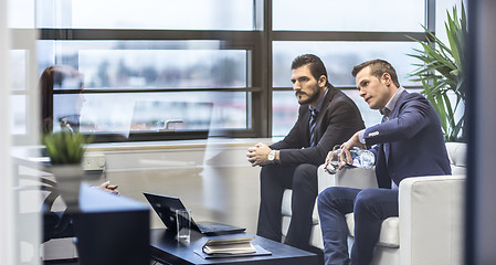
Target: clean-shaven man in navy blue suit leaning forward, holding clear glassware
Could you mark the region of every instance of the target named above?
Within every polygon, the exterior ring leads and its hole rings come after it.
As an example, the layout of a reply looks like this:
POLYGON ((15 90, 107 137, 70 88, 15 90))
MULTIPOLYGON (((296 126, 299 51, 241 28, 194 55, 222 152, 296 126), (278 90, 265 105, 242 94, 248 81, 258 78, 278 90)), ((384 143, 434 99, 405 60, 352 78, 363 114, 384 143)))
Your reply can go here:
POLYGON ((318 195, 326 264, 370 264, 382 221, 398 216, 401 180, 451 174, 440 119, 429 100, 401 87, 394 68, 386 61, 357 65, 352 75, 360 96, 371 109, 379 109, 383 119, 341 145, 340 168, 352 161, 350 148, 376 145, 371 151, 379 189, 330 187, 318 195), (350 212, 355 215, 351 258, 345 220, 350 212))

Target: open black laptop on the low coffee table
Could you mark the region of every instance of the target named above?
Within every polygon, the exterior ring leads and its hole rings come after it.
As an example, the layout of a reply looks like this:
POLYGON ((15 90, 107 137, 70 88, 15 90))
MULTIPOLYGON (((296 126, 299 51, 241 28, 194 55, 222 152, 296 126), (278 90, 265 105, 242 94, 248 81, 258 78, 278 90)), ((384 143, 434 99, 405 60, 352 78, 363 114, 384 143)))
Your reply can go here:
MULTIPOLYGON (((158 214, 160 220, 167 226, 167 229, 176 232, 176 210, 186 209, 179 198, 152 194, 148 192, 143 193, 151 208, 158 214)), ((223 234, 235 234, 244 232, 246 229, 238 227, 229 224, 221 224, 214 222, 200 222, 197 223, 191 218, 191 229, 196 230, 204 235, 223 235, 223 234)))

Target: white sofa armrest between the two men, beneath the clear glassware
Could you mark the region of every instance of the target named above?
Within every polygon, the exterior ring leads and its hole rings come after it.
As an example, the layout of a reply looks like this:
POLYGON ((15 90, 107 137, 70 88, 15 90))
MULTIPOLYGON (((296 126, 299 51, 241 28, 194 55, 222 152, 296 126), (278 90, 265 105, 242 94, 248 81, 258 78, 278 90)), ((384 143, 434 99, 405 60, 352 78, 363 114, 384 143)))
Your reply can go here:
POLYGON ((318 167, 318 192, 320 193, 327 187, 349 187, 357 189, 377 188, 376 172, 373 168, 344 168, 337 173, 328 173, 324 165, 318 167))

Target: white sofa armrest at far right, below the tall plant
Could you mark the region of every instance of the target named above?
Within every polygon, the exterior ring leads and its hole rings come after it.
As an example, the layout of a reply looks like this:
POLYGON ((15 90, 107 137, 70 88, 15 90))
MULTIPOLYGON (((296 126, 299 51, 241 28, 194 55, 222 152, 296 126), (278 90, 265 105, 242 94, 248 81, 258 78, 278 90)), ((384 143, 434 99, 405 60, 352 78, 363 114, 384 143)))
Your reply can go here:
POLYGON ((464 186, 464 176, 401 181, 401 264, 462 264, 464 186))

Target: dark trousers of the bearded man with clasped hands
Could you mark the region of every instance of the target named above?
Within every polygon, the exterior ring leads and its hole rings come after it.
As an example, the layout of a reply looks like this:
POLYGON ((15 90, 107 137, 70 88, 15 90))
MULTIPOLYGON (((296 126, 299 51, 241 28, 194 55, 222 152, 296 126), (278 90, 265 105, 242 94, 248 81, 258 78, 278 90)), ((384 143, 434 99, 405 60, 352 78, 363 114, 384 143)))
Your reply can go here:
POLYGON ((261 203, 256 234, 282 240, 282 199, 285 189, 293 190, 292 220, 285 244, 309 251, 312 214, 317 198, 317 166, 267 165, 261 170, 261 203))

